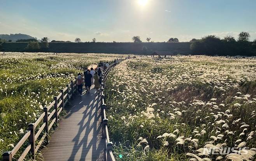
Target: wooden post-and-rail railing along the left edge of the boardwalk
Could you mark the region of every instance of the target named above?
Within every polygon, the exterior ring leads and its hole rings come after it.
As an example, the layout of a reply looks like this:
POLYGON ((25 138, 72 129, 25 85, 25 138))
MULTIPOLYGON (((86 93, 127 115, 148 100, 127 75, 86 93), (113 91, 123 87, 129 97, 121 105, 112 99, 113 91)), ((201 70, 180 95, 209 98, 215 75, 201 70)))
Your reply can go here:
POLYGON ((27 140, 29 144, 21 156, 19 156, 18 161, 22 161, 28 152, 31 152, 32 159, 35 160, 37 151, 43 143, 44 145, 49 143, 49 131, 53 127, 54 123, 58 123, 58 116, 60 115, 60 112, 64 110, 67 102, 69 102, 70 98, 76 91, 77 87, 75 78, 75 80, 70 81, 66 88, 60 90, 60 94, 54 97, 54 101, 51 102, 49 106, 44 107, 44 112, 40 115, 37 121, 28 125, 28 130, 25 132, 25 135, 21 140, 19 140, 18 144, 16 144, 12 151, 6 151, 2 154, 3 161, 12 161, 14 155, 19 151, 24 143, 27 143, 27 140), (54 109, 51 110, 52 108, 54 109), (51 111, 51 113, 48 114, 48 111, 51 111), (42 125, 37 128, 40 123, 42 123, 42 125))

